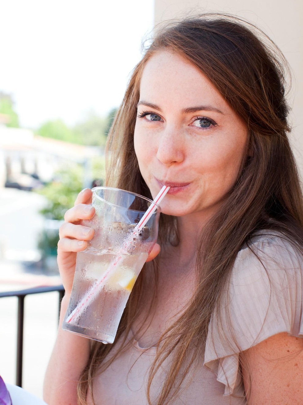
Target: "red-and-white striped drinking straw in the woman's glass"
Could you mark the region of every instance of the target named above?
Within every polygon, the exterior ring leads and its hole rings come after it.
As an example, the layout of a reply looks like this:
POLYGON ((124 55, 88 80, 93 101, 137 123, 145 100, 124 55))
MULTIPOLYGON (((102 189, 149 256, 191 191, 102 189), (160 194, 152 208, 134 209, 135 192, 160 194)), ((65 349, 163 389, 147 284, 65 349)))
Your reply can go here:
MULTIPOLYGON (((126 239, 126 241, 123 243, 123 250, 129 247, 131 244, 134 243, 134 234, 135 237, 138 236, 138 233, 144 226, 146 225, 147 221, 150 219, 150 217, 153 215, 153 213, 157 209, 157 205, 162 201, 164 198, 165 194, 167 191, 170 189, 169 186, 163 185, 161 188, 159 194, 156 196, 155 200, 153 200, 153 203, 150 204, 150 207, 148 207, 148 210, 146 213, 143 215, 141 218, 140 222, 138 225, 134 228, 133 234, 131 234, 130 237, 126 239)), ((120 264, 121 260, 123 258, 123 255, 118 255, 115 257, 114 261, 108 266, 106 272, 104 273, 103 277, 97 281, 91 288, 87 291, 81 302, 76 306, 76 308, 70 313, 68 318, 66 318, 66 322, 70 323, 72 320, 77 318, 78 316, 83 313, 83 311, 89 306, 89 304, 95 299, 96 297, 96 292, 100 290, 102 284, 105 283, 105 281, 108 279, 109 275, 112 273, 112 271, 115 269, 115 267, 120 264)))

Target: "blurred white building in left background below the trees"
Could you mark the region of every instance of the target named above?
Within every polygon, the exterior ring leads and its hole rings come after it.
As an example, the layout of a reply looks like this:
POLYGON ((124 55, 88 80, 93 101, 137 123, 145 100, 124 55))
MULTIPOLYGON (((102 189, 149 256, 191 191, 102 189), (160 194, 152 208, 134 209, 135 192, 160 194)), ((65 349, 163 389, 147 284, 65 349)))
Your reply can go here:
POLYGON ((31 130, 8 128, 6 122, 0 115, 0 187, 39 188, 52 179, 56 170, 75 163, 85 168, 83 186, 90 187, 90 160, 100 156, 100 147, 44 138, 31 130))

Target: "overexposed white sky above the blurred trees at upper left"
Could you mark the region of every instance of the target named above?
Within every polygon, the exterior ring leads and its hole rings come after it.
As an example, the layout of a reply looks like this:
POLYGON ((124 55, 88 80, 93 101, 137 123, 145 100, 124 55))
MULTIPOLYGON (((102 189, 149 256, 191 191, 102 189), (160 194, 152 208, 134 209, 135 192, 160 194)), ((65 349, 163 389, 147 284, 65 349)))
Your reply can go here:
POLYGON ((0 0, 0 91, 21 126, 117 107, 153 27, 153 0, 0 0))

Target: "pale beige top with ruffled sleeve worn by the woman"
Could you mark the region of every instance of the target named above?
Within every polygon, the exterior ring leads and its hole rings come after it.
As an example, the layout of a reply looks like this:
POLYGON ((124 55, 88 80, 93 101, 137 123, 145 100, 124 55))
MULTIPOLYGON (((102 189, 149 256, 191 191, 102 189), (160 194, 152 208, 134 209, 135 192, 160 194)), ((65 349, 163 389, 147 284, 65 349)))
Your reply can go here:
MULTIPOLYGON (((210 322, 204 361, 188 375, 174 405, 245 404, 239 352, 280 332, 303 337, 303 258, 277 234, 254 238, 237 255, 229 298, 221 312, 221 326, 210 322), (225 315, 229 310, 232 331, 225 315), (237 344, 233 340, 237 339, 237 344)), ((102 405, 147 405, 146 379, 155 348, 143 349, 129 335, 131 350, 119 355, 94 382, 94 397, 102 405)), ((169 360, 163 364, 169 367, 169 360)), ((152 398, 163 377, 157 375, 152 398)))

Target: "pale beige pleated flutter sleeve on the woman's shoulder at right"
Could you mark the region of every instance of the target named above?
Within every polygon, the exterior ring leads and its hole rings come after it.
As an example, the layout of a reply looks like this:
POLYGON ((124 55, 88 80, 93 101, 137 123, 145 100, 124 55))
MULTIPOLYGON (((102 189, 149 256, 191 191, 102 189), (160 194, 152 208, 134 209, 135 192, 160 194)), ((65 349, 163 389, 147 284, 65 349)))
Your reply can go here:
POLYGON ((281 332, 303 337, 302 256, 279 235, 260 236, 238 253, 204 358, 225 394, 244 396, 239 352, 281 332))

